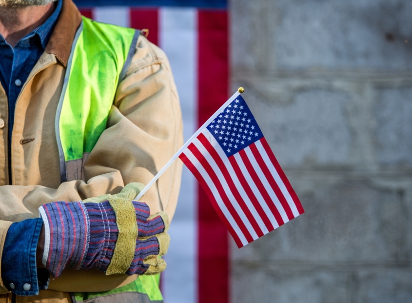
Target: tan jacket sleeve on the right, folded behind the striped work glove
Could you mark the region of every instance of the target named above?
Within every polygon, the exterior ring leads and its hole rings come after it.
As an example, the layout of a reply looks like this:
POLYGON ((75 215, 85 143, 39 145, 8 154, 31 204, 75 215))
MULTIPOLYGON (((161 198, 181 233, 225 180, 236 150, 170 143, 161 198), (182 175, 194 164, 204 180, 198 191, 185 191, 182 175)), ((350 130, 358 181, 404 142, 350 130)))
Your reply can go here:
MULTIPOLYGON (((182 144, 180 105, 169 62, 157 46, 140 36, 125 79, 119 84, 106 130, 85 162, 86 182, 64 182, 57 189, 39 185, 0 187, 0 258, 12 222, 39 217, 38 208, 43 203, 115 194, 130 182, 147 184, 182 144)), ((142 197, 152 213, 165 211, 173 217, 181 169, 181 162, 175 161, 142 197)), ((49 289, 104 291, 135 279, 68 270, 51 281, 49 289)), ((0 280, 0 294, 6 292, 0 280)))

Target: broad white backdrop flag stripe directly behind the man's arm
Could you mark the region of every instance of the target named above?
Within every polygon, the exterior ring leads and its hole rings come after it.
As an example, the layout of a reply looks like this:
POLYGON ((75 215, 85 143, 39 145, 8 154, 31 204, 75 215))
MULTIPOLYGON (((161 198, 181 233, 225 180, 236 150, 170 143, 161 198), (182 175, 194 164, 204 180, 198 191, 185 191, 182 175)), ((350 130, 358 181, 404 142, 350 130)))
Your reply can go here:
MULTIPOLYGON (((197 130, 197 11, 160 8, 159 46, 173 71, 183 118, 184 141, 197 130)), ((177 160, 180 161, 180 160, 177 160)), ((197 301, 197 182, 183 165, 180 195, 169 234, 172 239, 162 273, 165 302, 197 301)))

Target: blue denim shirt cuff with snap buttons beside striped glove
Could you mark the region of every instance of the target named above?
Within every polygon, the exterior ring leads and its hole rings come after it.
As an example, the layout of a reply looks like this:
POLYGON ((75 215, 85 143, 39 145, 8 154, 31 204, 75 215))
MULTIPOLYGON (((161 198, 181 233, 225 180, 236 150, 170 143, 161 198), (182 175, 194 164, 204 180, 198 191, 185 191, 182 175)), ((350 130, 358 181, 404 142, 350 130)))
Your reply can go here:
POLYGON ((36 250, 43 220, 27 219, 10 225, 1 258, 1 278, 18 296, 36 296, 47 289, 49 275, 36 264, 36 250))

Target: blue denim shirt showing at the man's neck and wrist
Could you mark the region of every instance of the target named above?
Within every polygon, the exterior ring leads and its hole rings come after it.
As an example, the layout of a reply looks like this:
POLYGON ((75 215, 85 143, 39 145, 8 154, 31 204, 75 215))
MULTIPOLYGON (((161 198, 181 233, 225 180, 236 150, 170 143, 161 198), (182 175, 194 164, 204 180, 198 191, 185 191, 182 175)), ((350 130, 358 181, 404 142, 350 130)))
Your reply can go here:
MULTIPOLYGON (((14 49, 0 35, 0 82, 8 97, 9 137, 14 124, 16 100, 24 82, 46 48, 59 18, 61 6, 62 0, 59 0, 53 14, 21 39, 14 49)), ((16 295, 38 295, 39 290, 48 286, 47 271, 36 267, 36 248, 41 226, 41 219, 28 219, 13 223, 7 232, 1 256, 1 279, 16 295)))

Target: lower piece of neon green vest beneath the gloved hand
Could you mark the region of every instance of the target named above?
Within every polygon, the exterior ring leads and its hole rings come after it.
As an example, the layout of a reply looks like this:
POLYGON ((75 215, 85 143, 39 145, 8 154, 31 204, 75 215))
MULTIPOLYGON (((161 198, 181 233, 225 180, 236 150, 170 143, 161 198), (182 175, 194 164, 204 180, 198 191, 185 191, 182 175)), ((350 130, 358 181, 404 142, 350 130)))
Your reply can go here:
POLYGON ((160 274, 139 276, 137 280, 122 287, 103 292, 76 292, 75 303, 162 303, 163 297, 159 289, 160 274))

